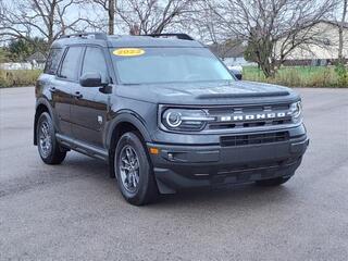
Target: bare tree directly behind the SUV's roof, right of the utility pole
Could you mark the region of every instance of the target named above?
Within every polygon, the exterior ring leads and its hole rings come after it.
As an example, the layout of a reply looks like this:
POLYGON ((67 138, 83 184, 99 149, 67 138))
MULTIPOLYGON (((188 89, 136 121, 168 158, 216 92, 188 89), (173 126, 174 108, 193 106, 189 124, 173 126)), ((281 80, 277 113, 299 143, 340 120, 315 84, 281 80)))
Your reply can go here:
POLYGON ((195 0, 119 0, 117 15, 128 30, 135 26, 139 34, 160 34, 169 25, 178 23, 179 17, 190 12, 195 0))

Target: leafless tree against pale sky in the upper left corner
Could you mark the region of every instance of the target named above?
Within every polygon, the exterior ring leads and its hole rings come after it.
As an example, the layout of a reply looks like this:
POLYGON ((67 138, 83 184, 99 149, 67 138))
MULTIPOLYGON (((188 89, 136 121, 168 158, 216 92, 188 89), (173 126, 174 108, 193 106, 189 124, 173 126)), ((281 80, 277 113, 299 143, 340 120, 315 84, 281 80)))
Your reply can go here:
POLYGON ((88 23, 87 18, 77 16, 67 17, 70 9, 73 9, 82 0, 17 0, 1 2, 0 37, 4 39, 22 38, 30 40, 40 36, 50 45, 60 35, 67 30, 83 29, 82 23, 88 23))

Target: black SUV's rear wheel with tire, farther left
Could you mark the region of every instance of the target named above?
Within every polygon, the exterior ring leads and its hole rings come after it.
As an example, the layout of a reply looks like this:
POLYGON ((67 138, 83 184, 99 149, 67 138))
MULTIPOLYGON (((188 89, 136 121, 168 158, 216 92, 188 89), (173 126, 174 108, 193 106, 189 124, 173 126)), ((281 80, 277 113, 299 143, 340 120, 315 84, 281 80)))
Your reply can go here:
POLYGON ((60 148, 55 138, 52 119, 47 112, 44 112, 37 121, 36 137, 39 154, 46 164, 55 165, 63 162, 66 150, 60 148))

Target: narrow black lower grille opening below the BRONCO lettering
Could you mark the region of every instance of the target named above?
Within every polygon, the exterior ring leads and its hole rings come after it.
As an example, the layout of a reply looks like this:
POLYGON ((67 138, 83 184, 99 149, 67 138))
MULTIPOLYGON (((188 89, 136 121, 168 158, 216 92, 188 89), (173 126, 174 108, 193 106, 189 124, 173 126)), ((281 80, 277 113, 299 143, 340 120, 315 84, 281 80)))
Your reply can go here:
POLYGON ((286 141, 289 139, 288 132, 266 133, 266 134, 249 134, 223 136, 220 138, 220 144, 223 147, 246 146, 258 144, 272 144, 286 141))

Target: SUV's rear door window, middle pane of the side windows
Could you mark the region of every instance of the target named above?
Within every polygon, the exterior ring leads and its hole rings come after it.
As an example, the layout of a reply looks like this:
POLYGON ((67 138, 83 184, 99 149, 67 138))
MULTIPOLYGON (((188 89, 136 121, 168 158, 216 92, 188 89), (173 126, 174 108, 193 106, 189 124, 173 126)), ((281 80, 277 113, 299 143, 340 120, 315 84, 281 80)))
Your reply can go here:
POLYGON ((79 61, 83 47, 70 47, 64 57, 59 76, 66 79, 76 80, 78 78, 79 61))

